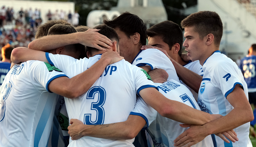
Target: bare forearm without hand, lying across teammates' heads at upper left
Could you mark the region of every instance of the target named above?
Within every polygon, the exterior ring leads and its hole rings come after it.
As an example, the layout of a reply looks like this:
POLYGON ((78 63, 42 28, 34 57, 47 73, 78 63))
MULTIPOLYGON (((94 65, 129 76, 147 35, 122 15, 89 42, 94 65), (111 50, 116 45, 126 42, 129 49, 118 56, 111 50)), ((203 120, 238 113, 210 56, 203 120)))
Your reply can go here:
POLYGON ((56 49, 61 46, 79 43, 79 39, 77 37, 77 33, 44 36, 30 42, 28 44, 28 48, 47 52, 51 49, 56 49))

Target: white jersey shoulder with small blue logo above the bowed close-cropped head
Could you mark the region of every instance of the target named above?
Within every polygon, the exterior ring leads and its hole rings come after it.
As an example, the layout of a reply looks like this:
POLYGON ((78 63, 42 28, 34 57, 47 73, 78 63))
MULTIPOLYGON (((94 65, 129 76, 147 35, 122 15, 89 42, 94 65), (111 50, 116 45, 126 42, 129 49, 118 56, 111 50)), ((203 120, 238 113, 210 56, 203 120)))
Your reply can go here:
POLYGON ((158 49, 146 49, 140 50, 137 56, 134 58, 133 65, 136 66, 150 66, 151 70, 160 68, 165 70, 169 77, 168 80, 173 79, 179 82, 176 70, 170 59, 158 49))

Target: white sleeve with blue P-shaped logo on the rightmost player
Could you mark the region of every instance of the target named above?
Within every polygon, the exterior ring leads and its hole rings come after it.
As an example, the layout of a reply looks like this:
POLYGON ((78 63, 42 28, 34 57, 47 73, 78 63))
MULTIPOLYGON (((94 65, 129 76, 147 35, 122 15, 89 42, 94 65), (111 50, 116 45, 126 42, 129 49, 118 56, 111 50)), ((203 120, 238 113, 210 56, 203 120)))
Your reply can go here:
POLYGON ((211 82, 220 88, 226 98, 234 90, 236 84, 240 84, 243 87, 241 78, 235 68, 238 67, 234 67, 228 62, 221 62, 215 64, 209 71, 211 73, 211 82))

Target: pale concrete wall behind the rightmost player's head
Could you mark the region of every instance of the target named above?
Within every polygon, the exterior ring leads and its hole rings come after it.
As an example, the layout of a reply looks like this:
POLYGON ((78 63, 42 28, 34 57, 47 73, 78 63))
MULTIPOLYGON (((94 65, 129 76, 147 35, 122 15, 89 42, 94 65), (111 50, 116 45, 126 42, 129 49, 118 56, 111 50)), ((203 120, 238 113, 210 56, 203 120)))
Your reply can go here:
POLYGON ((198 11, 215 11, 223 22, 223 37, 220 51, 236 60, 248 54, 249 47, 256 43, 256 18, 236 0, 198 0, 198 11))

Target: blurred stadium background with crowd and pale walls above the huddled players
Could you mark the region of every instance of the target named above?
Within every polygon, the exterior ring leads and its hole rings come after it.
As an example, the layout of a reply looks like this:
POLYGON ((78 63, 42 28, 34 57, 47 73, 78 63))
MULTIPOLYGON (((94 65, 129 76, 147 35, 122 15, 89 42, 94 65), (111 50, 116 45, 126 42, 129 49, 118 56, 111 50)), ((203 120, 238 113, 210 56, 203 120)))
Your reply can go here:
MULTIPOLYGON (((223 54, 239 62, 239 59, 248 54, 251 44, 256 43, 256 0, 0 0, 0 7, 3 6, 5 9, 13 7, 14 18, 10 22, 4 22, 0 28, 0 47, 7 43, 15 47, 27 47, 34 39, 36 26, 48 20, 49 10, 52 15, 56 10, 58 13, 63 10, 64 19, 67 20, 68 14, 75 16, 75 12, 78 12, 79 25, 89 27, 128 11, 141 17, 148 28, 164 20, 180 25, 181 20, 189 14, 210 10, 217 12, 223 22, 220 43, 223 54), (21 8, 24 12, 32 9, 31 20, 26 20, 25 16, 23 20, 19 20, 21 8), (34 15, 35 9, 41 10, 41 20, 34 15)), ((58 14, 58 17, 61 16, 58 14)), ((256 147, 256 139, 251 137, 251 141, 256 147)))

